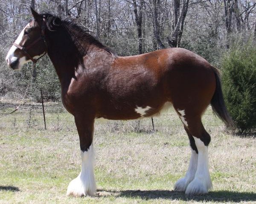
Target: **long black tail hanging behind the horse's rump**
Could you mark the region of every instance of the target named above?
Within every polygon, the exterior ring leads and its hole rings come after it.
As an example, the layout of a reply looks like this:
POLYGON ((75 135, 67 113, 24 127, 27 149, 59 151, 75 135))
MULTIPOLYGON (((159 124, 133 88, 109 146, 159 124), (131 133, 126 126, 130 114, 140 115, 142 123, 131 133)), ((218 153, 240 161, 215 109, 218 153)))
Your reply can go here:
POLYGON ((222 89, 221 89, 220 72, 218 71, 217 68, 215 67, 212 67, 212 68, 213 68, 215 80, 216 80, 216 88, 211 100, 212 111, 227 125, 227 127, 234 128, 235 124, 225 106, 222 89))

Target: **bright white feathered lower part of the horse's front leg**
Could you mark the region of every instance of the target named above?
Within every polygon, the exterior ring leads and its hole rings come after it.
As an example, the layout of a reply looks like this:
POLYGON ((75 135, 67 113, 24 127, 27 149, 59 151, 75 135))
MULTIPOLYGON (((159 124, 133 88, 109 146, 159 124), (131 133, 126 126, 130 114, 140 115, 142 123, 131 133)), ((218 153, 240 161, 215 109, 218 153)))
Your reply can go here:
POLYGON ((67 187, 67 195, 84 196, 96 193, 96 183, 94 178, 94 151, 93 145, 85 152, 81 151, 82 169, 79 175, 70 182, 67 187))

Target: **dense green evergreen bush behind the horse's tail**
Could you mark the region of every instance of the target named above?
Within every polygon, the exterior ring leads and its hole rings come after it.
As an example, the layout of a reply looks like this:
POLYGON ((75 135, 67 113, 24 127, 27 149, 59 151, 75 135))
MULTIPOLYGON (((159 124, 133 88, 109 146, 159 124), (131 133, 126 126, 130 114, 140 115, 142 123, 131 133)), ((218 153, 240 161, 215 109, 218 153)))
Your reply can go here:
POLYGON ((223 57, 222 84, 227 109, 241 131, 256 128, 256 46, 233 46, 223 57))

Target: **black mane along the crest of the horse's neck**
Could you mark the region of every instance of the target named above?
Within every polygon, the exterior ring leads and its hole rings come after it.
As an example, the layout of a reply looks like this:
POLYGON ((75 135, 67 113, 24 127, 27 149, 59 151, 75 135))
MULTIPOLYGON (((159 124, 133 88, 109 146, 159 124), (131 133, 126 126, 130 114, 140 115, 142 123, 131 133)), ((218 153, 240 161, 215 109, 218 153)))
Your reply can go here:
POLYGON ((85 30, 84 28, 79 26, 77 23, 75 23, 74 20, 70 18, 61 20, 60 17, 49 14, 49 13, 44 13, 41 15, 42 15, 42 18, 46 20, 46 26, 49 31, 55 31, 60 27, 64 28, 67 31, 67 34, 69 35, 70 40, 72 40, 72 42, 77 48, 80 62, 83 61, 82 58, 87 54, 87 51, 88 51, 88 48, 86 49, 86 47, 83 46, 83 44, 95 45, 96 47, 107 51, 112 55, 114 59, 116 59, 117 55, 115 52, 111 50, 111 48, 108 48, 107 46, 99 42, 99 40, 97 40, 95 37, 90 35, 87 30, 85 30))

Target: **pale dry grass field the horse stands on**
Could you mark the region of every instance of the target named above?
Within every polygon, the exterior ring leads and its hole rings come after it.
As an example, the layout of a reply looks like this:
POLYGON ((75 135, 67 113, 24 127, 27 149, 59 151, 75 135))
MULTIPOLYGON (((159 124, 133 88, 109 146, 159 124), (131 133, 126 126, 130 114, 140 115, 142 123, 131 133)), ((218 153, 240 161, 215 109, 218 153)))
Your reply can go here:
MULTIPOLYGON (((0 115, 12 107, 14 102, 0 101, 0 115)), ((97 195, 67 197, 67 185, 78 175, 81 161, 73 118, 61 107, 46 104, 47 130, 38 104, 0 119, 0 204, 256 203, 256 139, 225 132, 210 110, 204 116, 212 136, 213 190, 208 195, 173 191, 186 173, 190 149, 170 110, 154 118, 156 131, 150 119, 96 122, 97 195)))

